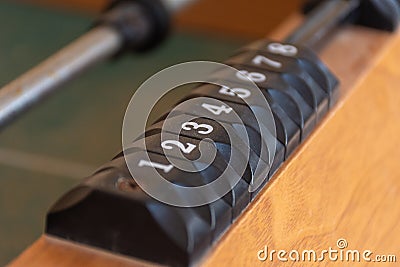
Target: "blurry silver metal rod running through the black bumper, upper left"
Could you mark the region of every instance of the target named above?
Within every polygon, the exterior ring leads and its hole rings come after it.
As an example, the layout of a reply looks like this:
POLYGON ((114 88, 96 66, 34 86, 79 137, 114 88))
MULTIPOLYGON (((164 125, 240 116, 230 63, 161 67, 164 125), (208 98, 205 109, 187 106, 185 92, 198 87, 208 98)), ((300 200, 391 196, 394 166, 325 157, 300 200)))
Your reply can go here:
MULTIPOLYGON (((195 0, 162 0, 177 12, 195 0)), ((98 26, 0 89, 0 129, 91 66, 115 55, 123 45, 117 30, 98 26)))

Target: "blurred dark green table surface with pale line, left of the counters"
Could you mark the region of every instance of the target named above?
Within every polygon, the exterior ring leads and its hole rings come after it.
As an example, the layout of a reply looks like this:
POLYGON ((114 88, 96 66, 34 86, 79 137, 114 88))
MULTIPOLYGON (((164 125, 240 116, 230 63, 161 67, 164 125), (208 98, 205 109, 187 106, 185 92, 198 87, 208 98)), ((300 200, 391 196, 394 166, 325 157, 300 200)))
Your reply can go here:
MULTIPOLYGON (((90 21, 0 3, 0 85, 84 33, 90 21)), ((175 33, 155 52, 95 67, 0 132, 0 265, 40 236, 46 210, 79 181, 71 176, 89 175, 120 150, 122 117, 141 82, 175 63, 222 60, 242 44, 175 33), (84 168, 66 174, 52 160, 84 168)))

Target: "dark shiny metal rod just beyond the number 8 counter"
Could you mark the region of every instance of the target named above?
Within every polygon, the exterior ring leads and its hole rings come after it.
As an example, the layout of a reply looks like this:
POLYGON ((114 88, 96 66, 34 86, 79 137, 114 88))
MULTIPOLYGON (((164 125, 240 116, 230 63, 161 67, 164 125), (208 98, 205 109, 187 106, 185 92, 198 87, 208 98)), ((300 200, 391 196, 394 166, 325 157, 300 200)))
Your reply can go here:
POLYGON ((314 48, 321 40, 333 32, 360 6, 360 0, 326 0, 307 16, 289 37, 288 43, 296 43, 314 48))

